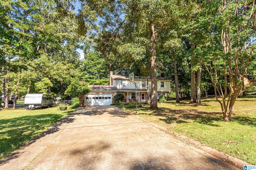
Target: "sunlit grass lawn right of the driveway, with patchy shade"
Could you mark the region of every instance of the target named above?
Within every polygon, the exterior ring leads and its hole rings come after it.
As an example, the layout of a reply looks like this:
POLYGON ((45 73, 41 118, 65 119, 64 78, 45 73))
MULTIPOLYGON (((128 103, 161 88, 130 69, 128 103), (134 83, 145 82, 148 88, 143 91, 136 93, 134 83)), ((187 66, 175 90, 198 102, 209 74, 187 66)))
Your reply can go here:
MULTIPOLYGON (((135 113, 135 107, 119 107, 135 113)), ((230 122, 222 121, 220 104, 214 99, 202 100, 202 105, 169 101, 158 107, 157 111, 152 111, 148 105, 142 105, 138 107, 138 115, 203 145, 256 164, 256 98, 239 98, 230 122)))

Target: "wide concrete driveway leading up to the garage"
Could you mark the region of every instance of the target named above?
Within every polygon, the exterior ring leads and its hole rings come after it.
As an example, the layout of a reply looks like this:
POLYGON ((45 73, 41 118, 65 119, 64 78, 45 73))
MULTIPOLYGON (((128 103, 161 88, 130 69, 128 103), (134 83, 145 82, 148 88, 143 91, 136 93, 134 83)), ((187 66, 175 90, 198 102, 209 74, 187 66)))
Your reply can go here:
POLYGON ((0 162, 27 170, 232 170, 115 106, 85 107, 0 162))

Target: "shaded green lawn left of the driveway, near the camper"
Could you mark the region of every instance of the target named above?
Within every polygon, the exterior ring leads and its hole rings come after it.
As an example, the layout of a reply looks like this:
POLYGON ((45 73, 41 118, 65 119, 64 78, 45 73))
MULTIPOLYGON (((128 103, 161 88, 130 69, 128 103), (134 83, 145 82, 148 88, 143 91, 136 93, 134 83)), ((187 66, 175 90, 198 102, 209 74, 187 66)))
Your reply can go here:
POLYGON ((7 109, 0 111, 0 159, 46 131, 75 109, 7 109))

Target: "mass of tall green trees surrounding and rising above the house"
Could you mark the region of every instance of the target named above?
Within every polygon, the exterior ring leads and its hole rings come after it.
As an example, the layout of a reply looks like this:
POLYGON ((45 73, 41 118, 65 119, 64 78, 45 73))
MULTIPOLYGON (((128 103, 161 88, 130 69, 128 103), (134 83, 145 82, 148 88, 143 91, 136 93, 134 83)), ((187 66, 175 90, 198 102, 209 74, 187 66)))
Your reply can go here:
POLYGON ((161 76, 176 102, 214 89, 228 121, 244 75, 256 75, 255 18, 254 0, 0 0, 2 99, 70 98, 70 84, 134 72, 152 78, 151 109, 161 76))

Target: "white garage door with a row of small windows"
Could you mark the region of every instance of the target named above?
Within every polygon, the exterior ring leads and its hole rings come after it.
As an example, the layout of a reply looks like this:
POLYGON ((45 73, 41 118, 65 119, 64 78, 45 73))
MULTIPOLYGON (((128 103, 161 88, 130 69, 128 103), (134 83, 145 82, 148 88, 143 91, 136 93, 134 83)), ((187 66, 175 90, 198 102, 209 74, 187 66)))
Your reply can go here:
POLYGON ((86 106, 103 106, 112 104, 112 94, 88 94, 85 96, 86 106))

